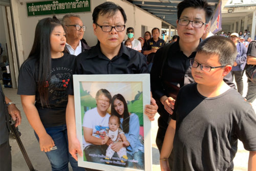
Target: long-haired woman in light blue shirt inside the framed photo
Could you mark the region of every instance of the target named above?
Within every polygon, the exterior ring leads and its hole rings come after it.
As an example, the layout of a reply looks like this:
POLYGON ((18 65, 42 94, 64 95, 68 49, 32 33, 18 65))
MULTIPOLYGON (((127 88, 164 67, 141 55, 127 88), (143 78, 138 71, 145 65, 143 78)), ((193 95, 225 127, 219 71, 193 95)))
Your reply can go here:
MULTIPOLYGON (((120 118, 120 127, 124 132, 127 141, 130 143, 127 146, 128 159, 134 159, 136 162, 128 162, 127 167, 135 167, 144 170, 144 145, 139 139, 139 117, 135 113, 129 113, 127 103, 121 94, 116 94, 112 97, 111 115, 120 118)), ((122 142, 117 142, 112 145, 112 149, 118 152, 123 147, 122 142)))

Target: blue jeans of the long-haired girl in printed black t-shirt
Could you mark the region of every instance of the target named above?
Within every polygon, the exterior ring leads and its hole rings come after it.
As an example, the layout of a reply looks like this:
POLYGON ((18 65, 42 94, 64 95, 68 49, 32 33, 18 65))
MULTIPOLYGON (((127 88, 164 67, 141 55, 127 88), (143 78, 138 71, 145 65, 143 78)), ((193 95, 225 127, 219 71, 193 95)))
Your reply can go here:
MULTIPOLYGON (((69 162, 74 171, 80 171, 84 168, 78 167, 77 161, 71 156, 69 153, 69 145, 68 145, 68 134, 67 134, 67 126, 60 125, 54 127, 46 127, 46 132, 49 134, 57 149, 46 152, 48 159, 51 162, 53 171, 68 171, 69 170, 69 162)), ((38 136, 36 135, 36 139, 39 141, 38 136)))

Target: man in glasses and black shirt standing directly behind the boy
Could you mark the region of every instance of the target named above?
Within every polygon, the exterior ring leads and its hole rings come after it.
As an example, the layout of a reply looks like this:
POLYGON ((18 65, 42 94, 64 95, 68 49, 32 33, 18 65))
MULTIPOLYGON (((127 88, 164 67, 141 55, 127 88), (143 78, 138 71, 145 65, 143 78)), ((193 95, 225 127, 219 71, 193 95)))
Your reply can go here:
MULTIPOLYGON (((164 135, 173 114, 174 104, 179 89, 193 83, 189 59, 195 58, 196 48, 205 33, 207 23, 212 16, 212 9, 204 0, 184 0, 177 6, 176 42, 159 49, 155 55, 151 70, 151 90, 158 105, 158 133, 156 144, 161 152, 164 135)), ((232 87, 232 75, 224 80, 232 87)))

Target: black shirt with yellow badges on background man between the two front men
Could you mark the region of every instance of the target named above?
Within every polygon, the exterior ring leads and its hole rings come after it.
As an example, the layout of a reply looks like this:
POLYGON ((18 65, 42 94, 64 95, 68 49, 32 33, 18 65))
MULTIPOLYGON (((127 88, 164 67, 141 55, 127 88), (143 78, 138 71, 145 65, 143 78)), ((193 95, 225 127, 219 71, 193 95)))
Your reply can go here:
MULTIPOLYGON (((165 44, 165 41, 161 38, 158 38, 157 41, 155 41, 153 38, 147 40, 146 42, 146 47, 145 49, 143 49, 143 51, 149 51, 152 49, 152 47, 158 47, 158 48, 161 48, 163 47, 165 44)), ((155 56, 156 53, 150 53, 147 55, 147 62, 148 63, 151 63, 153 62, 154 60, 154 56, 155 56)))

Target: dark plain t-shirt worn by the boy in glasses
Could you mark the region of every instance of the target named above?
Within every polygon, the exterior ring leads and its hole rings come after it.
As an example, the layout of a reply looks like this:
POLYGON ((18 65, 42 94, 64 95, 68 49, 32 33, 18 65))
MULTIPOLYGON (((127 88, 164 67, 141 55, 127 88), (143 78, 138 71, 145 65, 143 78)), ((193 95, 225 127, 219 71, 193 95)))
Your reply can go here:
POLYGON ((207 98, 197 83, 183 87, 175 102, 172 170, 233 170, 238 139, 256 151, 256 116, 234 89, 207 98))

